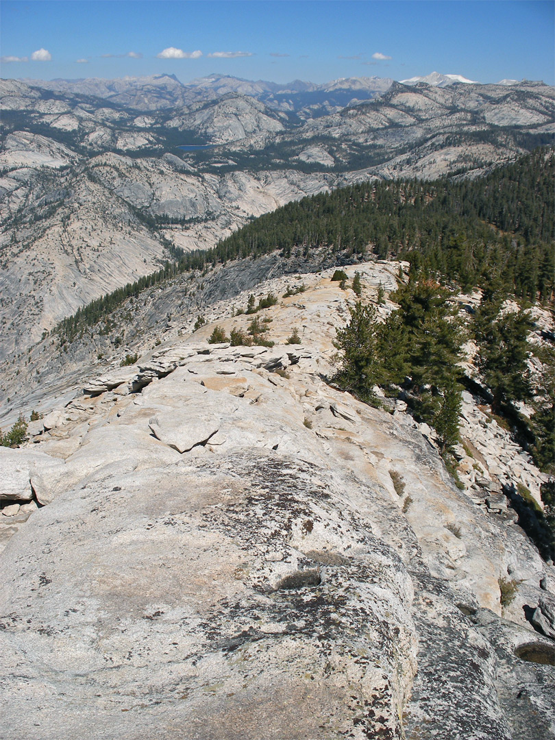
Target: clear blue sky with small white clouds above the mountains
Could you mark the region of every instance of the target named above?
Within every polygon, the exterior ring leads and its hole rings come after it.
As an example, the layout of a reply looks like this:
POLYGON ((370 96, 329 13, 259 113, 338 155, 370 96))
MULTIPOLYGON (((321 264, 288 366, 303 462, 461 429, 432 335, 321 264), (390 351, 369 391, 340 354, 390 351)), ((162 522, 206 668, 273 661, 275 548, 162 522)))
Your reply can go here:
POLYGON ((2 0, 4 78, 432 71, 555 84, 552 0, 2 0))

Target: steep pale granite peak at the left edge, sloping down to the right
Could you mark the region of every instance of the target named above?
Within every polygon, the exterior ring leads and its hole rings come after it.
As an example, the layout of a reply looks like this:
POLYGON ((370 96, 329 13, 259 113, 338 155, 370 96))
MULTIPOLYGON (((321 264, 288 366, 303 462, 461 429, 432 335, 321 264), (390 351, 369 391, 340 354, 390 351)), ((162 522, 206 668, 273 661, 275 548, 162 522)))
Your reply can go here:
POLYGON ((3 235, 0 359, 36 343, 53 323, 98 295, 159 269, 168 257, 127 203, 82 167, 55 178, 37 173, 16 184, 4 208, 20 198, 33 201, 33 215, 12 221, 10 240, 3 235))

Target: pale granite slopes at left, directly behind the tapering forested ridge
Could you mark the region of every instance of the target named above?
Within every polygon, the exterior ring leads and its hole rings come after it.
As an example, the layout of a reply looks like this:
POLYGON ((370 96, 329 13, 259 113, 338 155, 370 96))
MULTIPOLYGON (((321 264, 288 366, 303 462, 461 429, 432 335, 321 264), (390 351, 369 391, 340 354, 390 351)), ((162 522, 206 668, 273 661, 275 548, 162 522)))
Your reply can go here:
POLYGON ((294 170, 200 174, 172 155, 106 154, 61 172, 10 172, 0 183, 0 360, 79 306, 159 269, 168 244, 208 249, 253 215, 337 181, 294 170))

